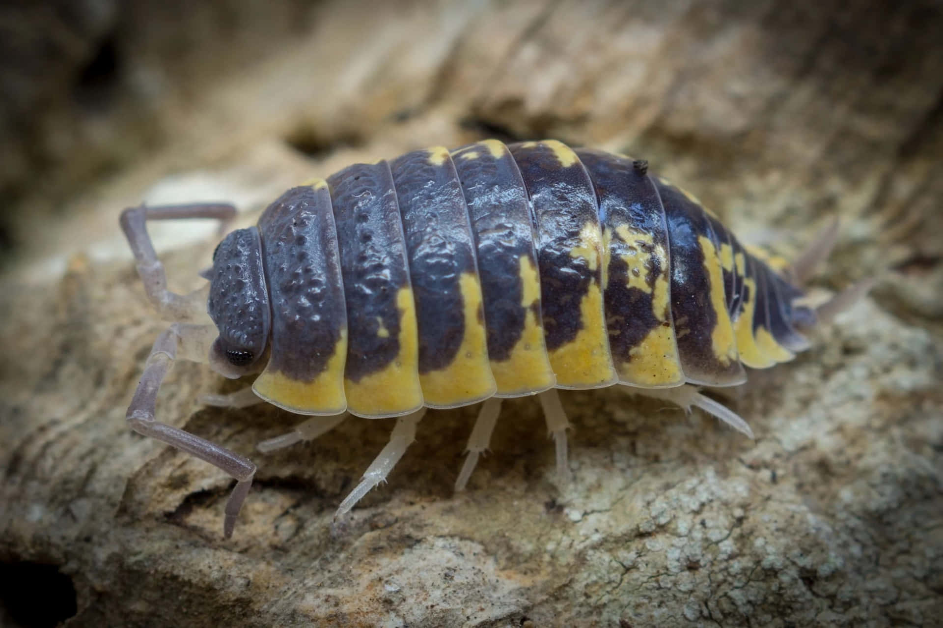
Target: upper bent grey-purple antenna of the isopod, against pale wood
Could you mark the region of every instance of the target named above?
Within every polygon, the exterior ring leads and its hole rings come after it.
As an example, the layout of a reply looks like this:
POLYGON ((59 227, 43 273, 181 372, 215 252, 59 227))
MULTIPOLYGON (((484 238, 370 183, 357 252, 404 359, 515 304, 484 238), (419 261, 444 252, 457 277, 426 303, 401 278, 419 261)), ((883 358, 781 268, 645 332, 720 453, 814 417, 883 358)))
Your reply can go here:
POLYGON ((223 229, 235 215, 236 207, 222 204, 128 207, 122 212, 121 227, 137 262, 147 298, 162 318, 182 322, 205 320, 207 291, 199 289, 190 294, 177 294, 167 289, 167 274, 147 233, 147 221, 214 218, 221 221, 223 229))

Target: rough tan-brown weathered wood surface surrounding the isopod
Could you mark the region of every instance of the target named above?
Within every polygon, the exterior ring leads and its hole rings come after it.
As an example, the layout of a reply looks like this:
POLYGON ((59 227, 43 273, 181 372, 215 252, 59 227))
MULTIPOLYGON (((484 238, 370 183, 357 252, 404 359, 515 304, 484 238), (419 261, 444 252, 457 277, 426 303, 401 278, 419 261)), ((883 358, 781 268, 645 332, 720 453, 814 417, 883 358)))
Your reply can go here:
MULTIPOLYGON (((0 623, 70 596, 71 626, 938 620, 938 5, 280 2, 263 20, 230 4, 228 28, 207 9, 180 40, 156 3, 111 16, 121 85, 136 77, 153 105, 76 124, 126 163, 88 171, 79 142, 42 174, 49 186, 20 181, 31 191, 11 213, 0 286, 0 580, 35 578, 50 602, 24 608, 2 587, 0 623), (231 58, 227 38, 241 44, 231 58), (174 57, 179 41, 190 46, 174 57), (132 131, 149 140, 122 140, 132 131), (223 541, 229 480, 124 426, 163 325, 118 211, 225 198, 251 223, 312 175, 486 136, 647 157, 748 240, 802 241, 837 214, 843 240, 819 285, 894 273, 813 350, 736 391, 754 442, 617 390, 565 394, 562 486, 537 403, 513 400, 454 495, 474 408, 434 411, 389 484, 339 523, 390 421, 257 454, 299 418, 197 405, 240 384, 179 363, 160 416, 260 468, 223 541)), ((174 288, 199 286, 211 225, 153 233, 174 288)))

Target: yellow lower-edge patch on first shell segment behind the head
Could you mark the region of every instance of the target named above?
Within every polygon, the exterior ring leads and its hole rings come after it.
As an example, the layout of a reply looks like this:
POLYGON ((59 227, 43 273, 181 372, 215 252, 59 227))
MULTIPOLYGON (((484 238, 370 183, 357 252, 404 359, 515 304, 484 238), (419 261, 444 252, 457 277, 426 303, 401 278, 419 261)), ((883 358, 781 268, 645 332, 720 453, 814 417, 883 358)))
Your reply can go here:
POLYGON ((333 415, 347 409, 344 396, 344 364, 347 330, 340 333, 327 367, 311 381, 298 380, 267 367, 252 385, 256 395, 270 404, 299 414, 333 415))

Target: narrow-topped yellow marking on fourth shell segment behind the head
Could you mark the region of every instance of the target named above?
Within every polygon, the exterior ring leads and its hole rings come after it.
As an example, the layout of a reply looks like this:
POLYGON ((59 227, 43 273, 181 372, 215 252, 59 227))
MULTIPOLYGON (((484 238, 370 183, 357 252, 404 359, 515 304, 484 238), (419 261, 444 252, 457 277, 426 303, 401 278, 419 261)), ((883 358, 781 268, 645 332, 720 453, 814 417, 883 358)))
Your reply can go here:
POLYGON ((502 396, 523 395, 552 388, 556 383, 543 339, 543 325, 534 313, 540 300, 540 279, 537 267, 528 256, 518 260, 521 278, 521 306, 524 307, 524 328, 511 354, 501 362, 491 360, 491 372, 502 396))

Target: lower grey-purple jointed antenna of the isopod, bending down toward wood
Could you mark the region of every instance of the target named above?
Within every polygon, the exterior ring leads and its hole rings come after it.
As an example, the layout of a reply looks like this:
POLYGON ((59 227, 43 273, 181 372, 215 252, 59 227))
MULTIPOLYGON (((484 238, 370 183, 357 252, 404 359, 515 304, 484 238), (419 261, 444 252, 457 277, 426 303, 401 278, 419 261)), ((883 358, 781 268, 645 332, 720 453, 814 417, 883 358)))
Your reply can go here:
MULTIPOLYGON (((178 325, 172 325, 170 329, 157 337, 154 348, 151 349, 151 355, 148 356, 147 362, 144 364, 141 382, 134 391, 134 398, 127 408, 125 419, 135 432, 146 437, 157 438, 157 440, 172 445, 188 454, 195 455, 228 473, 236 480, 236 488, 233 488, 229 501, 225 505, 223 537, 228 538, 232 536, 233 527, 236 525, 236 517, 239 515, 242 502, 249 492, 249 487, 252 486, 252 478, 256 474, 256 465, 248 458, 230 452, 216 443, 155 419, 157 390, 160 389, 164 376, 174 365, 177 342, 181 339, 178 336, 178 330, 178 325)), ((184 344, 186 344, 188 338, 188 336, 183 338, 184 344)))

